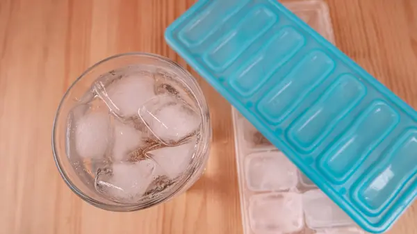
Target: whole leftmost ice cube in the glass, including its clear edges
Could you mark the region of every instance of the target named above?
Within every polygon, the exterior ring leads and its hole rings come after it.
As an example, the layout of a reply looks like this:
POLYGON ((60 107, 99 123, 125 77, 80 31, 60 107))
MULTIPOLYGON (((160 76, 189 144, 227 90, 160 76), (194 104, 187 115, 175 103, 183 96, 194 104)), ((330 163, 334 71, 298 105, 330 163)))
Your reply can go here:
POLYGON ((113 125, 99 100, 78 104, 68 115, 67 154, 74 160, 104 158, 112 141, 113 125))

